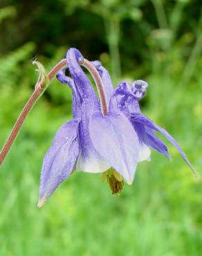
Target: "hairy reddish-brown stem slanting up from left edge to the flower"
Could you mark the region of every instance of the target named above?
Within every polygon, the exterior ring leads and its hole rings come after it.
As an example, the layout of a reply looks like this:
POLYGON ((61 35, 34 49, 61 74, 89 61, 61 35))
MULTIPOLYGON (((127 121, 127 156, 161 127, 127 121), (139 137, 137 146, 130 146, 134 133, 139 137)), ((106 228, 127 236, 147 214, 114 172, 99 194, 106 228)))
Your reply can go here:
MULTIPOLYGON (((48 80, 49 82, 53 79, 53 77, 57 74, 57 72, 66 66, 66 60, 62 60, 59 62, 52 70, 48 73, 48 80)), ((24 109, 21 111, 19 118, 17 118, 17 121, 15 122, 14 127, 12 128, 12 131, 10 135, 8 136, 8 139, 6 140, 6 143, 3 146, 3 149, 0 152, 0 166, 3 163, 3 160, 6 158, 6 155, 8 154, 8 151, 10 147, 12 146, 12 143, 14 143, 15 138, 17 137, 17 134, 19 133, 19 130, 21 129, 21 126, 24 123, 24 120, 26 120, 26 117, 28 116, 28 113, 34 106, 34 104, 37 102, 39 97, 44 93, 46 87, 45 86, 45 79, 42 79, 37 82, 35 86, 35 91, 30 96, 28 102, 26 102, 26 105, 24 109)))

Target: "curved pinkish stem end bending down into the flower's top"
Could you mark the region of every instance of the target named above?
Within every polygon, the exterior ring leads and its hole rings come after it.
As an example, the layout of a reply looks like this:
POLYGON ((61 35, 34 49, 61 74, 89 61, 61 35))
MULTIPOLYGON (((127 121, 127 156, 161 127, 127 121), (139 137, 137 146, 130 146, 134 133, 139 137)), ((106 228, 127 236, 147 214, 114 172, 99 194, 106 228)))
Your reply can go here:
POLYGON ((102 83, 101 77, 95 66, 93 66, 93 64, 91 64, 89 60, 83 59, 82 62, 80 62, 80 64, 91 73, 98 89, 103 116, 106 116, 108 113, 107 98, 104 92, 104 85, 102 83))

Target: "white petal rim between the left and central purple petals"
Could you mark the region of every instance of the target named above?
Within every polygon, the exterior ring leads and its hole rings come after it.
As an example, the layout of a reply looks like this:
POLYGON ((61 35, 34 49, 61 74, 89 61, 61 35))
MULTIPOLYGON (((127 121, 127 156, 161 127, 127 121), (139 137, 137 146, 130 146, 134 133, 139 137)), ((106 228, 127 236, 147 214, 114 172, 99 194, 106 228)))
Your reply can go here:
POLYGON ((77 160, 76 170, 82 172, 99 173, 107 171, 111 166, 97 157, 84 159, 81 155, 77 160))

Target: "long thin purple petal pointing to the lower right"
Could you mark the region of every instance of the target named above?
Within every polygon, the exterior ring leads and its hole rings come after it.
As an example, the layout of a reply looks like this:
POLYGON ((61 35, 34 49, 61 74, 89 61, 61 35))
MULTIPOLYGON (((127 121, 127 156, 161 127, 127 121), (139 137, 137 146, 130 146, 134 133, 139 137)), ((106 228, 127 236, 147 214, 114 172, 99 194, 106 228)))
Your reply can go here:
POLYGON ((131 116, 131 121, 132 122, 141 122, 143 125, 145 125, 145 127, 154 129, 155 131, 159 131, 161 134, 163 134, 163 136, 165 136, 165 138, 167 138, 167 140, 169 140, 169 142, 172 143, 172 145, 174 145, 174 147, 176 147, 178 152, 180 152, 181 156, 183 157, 184 161, 187 163, 187 165, 189 165, 190 169, 195 174, 194 168, 192 167, 190 161, 188 161, 187 156, 185 156, 185 153, 183 152, 181 147, 178 145, 176 140, 167 131, 165 131, 165 129, 156 125, 154 122, 152 122, 152 120, 150 120, 149 118, 147 118, 146 116, 144 116, 141 113, 136 113, 133 116, 131 116))

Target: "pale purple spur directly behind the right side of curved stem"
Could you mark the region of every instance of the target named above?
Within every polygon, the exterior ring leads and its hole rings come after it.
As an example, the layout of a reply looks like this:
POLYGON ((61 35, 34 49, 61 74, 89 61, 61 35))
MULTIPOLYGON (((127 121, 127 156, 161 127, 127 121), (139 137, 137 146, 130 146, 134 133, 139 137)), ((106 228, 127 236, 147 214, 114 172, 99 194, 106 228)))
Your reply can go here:
POLYGON ((109 100, 110 100, 111 95, 113 94, 113 90, 114 90, 109 72, 107 71, 107 69, 104 68, 104 66, 102 66, 101 62, 95 61, 95 62, 91 62, 91 63, 95 66, 95 68, 97 69, 97 71, 102 79, 105 95, 107 98, 107 104, 109 107, 109 100))

